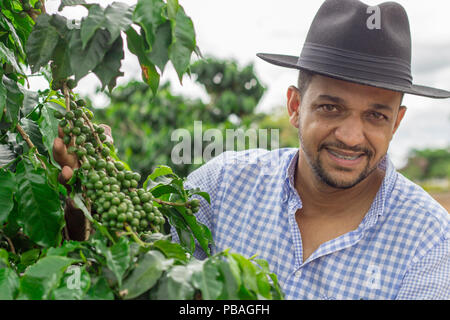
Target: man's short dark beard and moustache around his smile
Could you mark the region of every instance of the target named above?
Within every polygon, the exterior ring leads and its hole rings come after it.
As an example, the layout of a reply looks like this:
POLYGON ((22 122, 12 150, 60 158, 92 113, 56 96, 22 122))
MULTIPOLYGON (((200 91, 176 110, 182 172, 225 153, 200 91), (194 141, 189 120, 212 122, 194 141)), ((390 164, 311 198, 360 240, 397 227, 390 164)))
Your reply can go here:
MULTIPOLYGON (((354 186, 356 186, 358 183, 363 181, 365 178, 367 178, 373 171, 375 171, 378 167, 378 164, 376 164, 373 167, 370 167, 370 159, 373 156, 373 152, 367 148, 360 148, 360 147, 348 147, 345 144, 341 142, 333 142, 333 143, 324 143, 321 144, 317 150, 317 157, 313 158, 312 155, 308 152, 308 150, 305 148, 305 144, 303 143, 303 138, 299 130, 299 138, 300 138, 300 147, 303 150, 303 154, 305 155, 305 159, 309 166, 312 168, 314 174, 316 177, 319 178, 320 181, 327 184, 330 187, 336 188, 336 189, 350 189, 354 186), (361 171, 358 177, 356 177, 353 180, 350 181, 344 181, 334 178, 329 172, 327 172, 322 164, 322 161, 320 160, 320 152, 323 150, 325 152, 327 147, 334 147, 340 150, 347 150, 352 152, 363 152, 363 157, 367 157, 367 164, 365 168, 361 171)), ((351 169, 346 168, 340 168, 340 171, 352 171, 351 169)))

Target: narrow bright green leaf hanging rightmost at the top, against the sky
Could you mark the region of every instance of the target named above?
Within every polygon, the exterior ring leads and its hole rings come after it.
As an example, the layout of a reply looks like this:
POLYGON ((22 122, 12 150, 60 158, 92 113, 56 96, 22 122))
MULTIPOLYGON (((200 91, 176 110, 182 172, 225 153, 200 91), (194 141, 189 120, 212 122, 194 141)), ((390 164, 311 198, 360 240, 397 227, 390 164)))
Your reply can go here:
POLYGON ((188 70, 191 54, 195 50, 195 31, 191 18, 183 7, 177 11, 175 21, 172 21, 172 44, 169 48, 169 58, 178 74, 180 82, 188 70))

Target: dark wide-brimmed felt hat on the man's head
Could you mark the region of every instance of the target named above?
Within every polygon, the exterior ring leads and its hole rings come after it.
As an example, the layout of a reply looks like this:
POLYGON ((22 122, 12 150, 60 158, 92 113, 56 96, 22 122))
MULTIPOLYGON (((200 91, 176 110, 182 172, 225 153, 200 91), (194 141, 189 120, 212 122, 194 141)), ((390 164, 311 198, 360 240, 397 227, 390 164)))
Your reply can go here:
POLYGON ((408 15, 396 2, 368 6, 326 0, 309 29, 300 57, 258 53, 272 64, 430 98, 450 92, 412 83, 408 15))

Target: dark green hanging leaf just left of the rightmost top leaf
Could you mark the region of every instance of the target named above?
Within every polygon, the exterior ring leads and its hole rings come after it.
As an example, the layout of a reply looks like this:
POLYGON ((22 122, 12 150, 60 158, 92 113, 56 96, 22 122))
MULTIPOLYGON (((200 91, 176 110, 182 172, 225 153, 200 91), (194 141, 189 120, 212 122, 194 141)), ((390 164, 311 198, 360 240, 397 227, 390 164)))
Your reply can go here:
POLYGON ((172 27, 169 21, 164 22, 156 29, 155 42, 148 59, 156 65, 161 73, 169 61, 169 48, 172 43, 172 27))

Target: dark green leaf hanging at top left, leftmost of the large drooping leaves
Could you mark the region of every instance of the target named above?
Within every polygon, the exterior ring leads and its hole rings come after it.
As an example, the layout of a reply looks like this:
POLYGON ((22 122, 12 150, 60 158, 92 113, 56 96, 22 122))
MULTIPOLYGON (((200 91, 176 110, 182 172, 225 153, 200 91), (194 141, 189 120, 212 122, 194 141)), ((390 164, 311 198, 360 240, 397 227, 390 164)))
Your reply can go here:
POLYGON ((25 50, 33 73, 48 64, 59 41, 58 31, 50 24, 51 16, 40 14, 31 32, 25 50))

